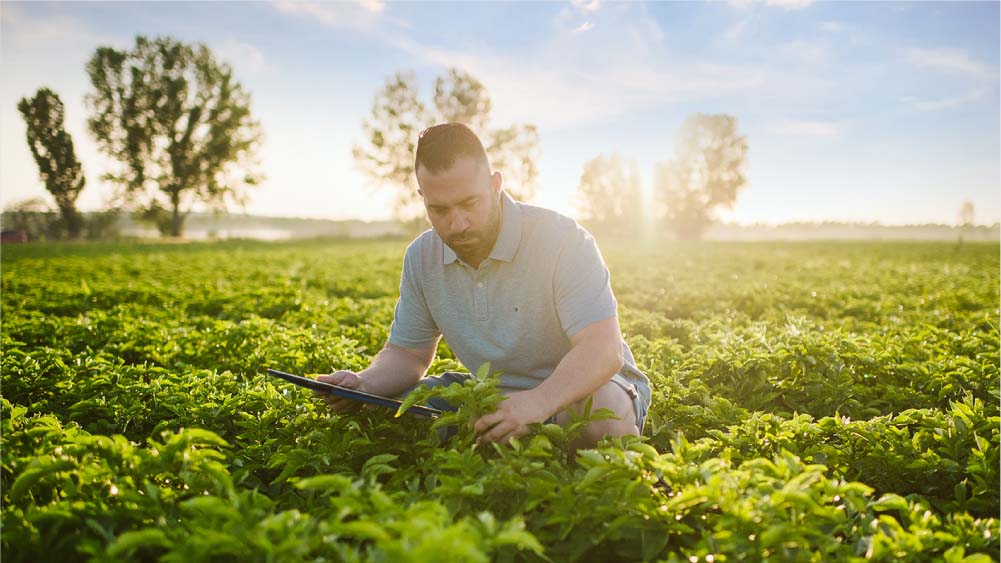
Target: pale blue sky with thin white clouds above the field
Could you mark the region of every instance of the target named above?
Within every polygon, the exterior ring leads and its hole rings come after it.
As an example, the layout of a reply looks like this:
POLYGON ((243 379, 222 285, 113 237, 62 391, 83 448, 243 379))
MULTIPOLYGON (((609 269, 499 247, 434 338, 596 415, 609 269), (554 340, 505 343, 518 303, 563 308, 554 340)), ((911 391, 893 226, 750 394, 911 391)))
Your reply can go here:
MULTIPOLYGON (((245 211, 382 219, 391 189, 351 147, 385 81, 412 71, 429 102, 455 67, 483 83, 496 127, 532 123, 535 203, 576 215, 585 162, 635 159, 650 189, 693 113, 748 139, 738 223, 1001 221, 998 2, 0 3, 0 205, 47 197, 17 101, 66 106, 101 208, 111 162, 86 127, 84 70, 137 35, 208 45, 251 93, 266 180, 245 211)), ((502 170, 503 172, 503 170, 502 170)), ((239 210, 239 209, 236 209, 239 210)))

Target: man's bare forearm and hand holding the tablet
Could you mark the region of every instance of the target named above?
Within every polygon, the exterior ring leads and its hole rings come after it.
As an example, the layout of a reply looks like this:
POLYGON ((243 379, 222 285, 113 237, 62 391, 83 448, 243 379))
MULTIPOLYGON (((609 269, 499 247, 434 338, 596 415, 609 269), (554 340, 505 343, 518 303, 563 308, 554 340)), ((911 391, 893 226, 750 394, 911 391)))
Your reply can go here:
MULTIPOLYGON (((372 363, 357 374, 339 371, 316 379, 373 395, 395 397, 417 385, 434 360, 435 350, 436 346, 414 349, 386 343, 372 359, 372 363)), ((351 399, 326 395, 323 400, 336 412, 346 412, 357 407, 357 402, 351 399)))

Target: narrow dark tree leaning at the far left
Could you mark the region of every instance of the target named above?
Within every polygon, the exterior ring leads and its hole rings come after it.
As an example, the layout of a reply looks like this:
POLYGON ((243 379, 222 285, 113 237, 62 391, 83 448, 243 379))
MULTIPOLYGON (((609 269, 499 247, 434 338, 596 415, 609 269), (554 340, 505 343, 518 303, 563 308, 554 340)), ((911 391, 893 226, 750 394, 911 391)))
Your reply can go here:
POLYGON ((76 199, 87 179, 73 150, 73 139, 63 128, 62 100, 48 88, 40 88, 32 98, 21 98, 18 111, 27 124, 28 147, 38 164, 45 189, 52 194, 70 238, 80 235, 83 217, 76 199))

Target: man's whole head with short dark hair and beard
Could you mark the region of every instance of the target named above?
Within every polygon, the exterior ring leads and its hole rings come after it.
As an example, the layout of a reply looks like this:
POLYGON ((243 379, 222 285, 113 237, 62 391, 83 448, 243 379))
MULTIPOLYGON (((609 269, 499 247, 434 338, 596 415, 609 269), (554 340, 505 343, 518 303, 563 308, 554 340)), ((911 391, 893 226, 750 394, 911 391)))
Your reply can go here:
POLYGON ((414 160, 427 218, 462 261, 478 266, 500 232, 500 172, 468 127, 442 123, 424 129, 414 160))

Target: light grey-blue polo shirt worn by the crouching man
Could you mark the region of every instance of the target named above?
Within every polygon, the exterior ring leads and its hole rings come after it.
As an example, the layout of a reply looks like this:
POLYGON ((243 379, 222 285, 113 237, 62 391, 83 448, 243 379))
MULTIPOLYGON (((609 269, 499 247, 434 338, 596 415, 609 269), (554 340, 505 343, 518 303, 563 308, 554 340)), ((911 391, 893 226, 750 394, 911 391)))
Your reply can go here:
MULTIPOLYGON (((426 349, 442 336, 470 372, 485 362, 502 387, 532 389, 571 350, 570 337, 617 316, 609 269, 595 239, 574 219, 502 193, 496 242, 478 268, 460 260, 433 229, 406 248, 389 343, 426 349)), ((620 375, 647 377, 623 342, 620 375)), ((649 401, 649 398, 648 398, 649 401)))

